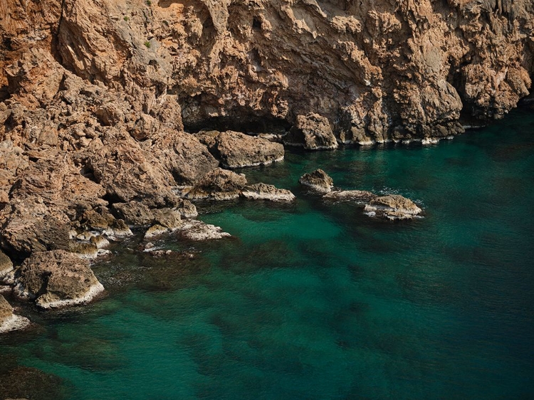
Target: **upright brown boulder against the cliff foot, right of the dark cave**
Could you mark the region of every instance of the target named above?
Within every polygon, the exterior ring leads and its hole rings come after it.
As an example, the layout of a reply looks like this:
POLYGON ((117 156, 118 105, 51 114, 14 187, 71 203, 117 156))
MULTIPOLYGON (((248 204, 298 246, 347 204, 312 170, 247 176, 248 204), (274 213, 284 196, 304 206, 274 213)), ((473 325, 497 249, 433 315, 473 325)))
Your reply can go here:
POLYGON ((337 148, 337 140, 328 119, 313 113, 298 115, 295 125, 283 141, 292 146, 303 146, 307 150, 337 148))

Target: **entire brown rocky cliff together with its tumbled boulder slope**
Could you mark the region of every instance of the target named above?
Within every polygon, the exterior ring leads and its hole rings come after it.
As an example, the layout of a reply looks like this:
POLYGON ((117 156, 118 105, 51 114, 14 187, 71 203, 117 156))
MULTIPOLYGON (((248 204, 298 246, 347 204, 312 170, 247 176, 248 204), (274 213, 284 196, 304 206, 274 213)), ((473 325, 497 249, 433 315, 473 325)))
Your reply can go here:
MULTIPOLYGON (((534 71, 527 0, 0 0, 0 16, 0 247, 16 261, 94 256, 131 234, 128 209, 194 216, 218 167, 282 159, 268 140, 456 135, 515 107, 534 71)), ((217 193, 239 196, 235 179, 217 193)))

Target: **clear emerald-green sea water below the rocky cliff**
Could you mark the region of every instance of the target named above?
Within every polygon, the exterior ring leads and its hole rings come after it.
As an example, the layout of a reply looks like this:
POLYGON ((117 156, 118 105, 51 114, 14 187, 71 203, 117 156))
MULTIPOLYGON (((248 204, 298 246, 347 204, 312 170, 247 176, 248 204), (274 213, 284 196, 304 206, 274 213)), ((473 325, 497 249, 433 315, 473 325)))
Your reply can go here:
POLYGON ((201 219, 235 238, 159 243, 183 256, 117 246, 94 266, 102 300, 21 308, 41 326, 0 337, 0 389, 18 364, 62 379, 39 399, 532 399, 533 133, 519 110, 434 147, 246 169, 298 200, 208 204, 201 219), (324 204, 297 183, 318 167, 426 216, 324 204))

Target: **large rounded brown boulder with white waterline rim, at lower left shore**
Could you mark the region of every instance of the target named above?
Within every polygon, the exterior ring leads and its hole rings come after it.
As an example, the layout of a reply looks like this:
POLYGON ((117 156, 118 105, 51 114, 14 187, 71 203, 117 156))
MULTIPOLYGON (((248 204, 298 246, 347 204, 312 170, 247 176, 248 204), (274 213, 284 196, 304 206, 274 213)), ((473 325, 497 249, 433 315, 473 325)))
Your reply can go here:
POLYGON ((42 308, 90 302, 104 290, 87 260, 63 250, 35 252, 14 270, 14 293, 42 308))

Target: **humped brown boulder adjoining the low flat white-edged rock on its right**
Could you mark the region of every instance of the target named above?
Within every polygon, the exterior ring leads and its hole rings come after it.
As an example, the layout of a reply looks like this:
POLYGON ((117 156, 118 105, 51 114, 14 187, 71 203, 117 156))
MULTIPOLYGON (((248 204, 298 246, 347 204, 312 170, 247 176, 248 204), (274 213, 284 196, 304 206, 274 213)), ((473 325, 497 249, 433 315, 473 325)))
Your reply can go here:
POLYGON ((245 185, 246 177, 244 174, 236 174, 226 169, 217 168, 204 175, 187 193, 187 198, 191 200, 237 199, 245 185))

